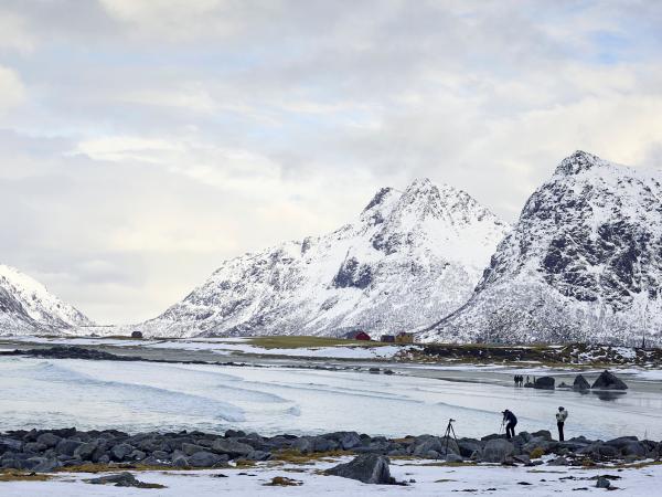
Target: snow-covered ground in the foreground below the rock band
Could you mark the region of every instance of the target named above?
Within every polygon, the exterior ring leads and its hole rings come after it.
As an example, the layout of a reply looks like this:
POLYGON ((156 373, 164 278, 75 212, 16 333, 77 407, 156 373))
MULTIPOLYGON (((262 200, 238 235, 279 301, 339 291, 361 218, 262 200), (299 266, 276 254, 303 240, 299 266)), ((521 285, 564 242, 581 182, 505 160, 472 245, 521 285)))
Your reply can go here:
MULTIPOLYGON (((344 459, 342 459, 344 461, 344 459)), ((501 466, 426 466, 425 462, 394 461, 391 474, 397 480, 409 482, 408 486, 366 485, 337 476, 324 476, 317 473, 338 462, 318 463, 314 466, 269 467, 258 466, 248 469, 215 469, 200 472, 148 472, 136 473, 135 476, 145 483, 164 485, 159 490, 141 488, 118 488, 107 485, 90 485, 85 479, 99 475, 58 474, 51 482, 12 482, 0 483, 3 497, 24 497, 49 495, 52 497, 70 496, 255 496, 255 495, 293 495, 293 496, 439 496, 439 495, 499 495, 499 496, 554 496, 573 490, 586 489, 604 493, 596 488, 598 475, 610 475, 611 485, 618 487, 621 496, 653 496, 655 488, 662 485, 662 466, 648 466, 639 469, 583 469, 559 466, 501 467, 501 466), (243 475, 241 473, 244 473, 243 475), (225 477, 218 477, 224 475, 225 477), (285 476, 300 486, 273 487, 265 486, 271 478, 285 476)))

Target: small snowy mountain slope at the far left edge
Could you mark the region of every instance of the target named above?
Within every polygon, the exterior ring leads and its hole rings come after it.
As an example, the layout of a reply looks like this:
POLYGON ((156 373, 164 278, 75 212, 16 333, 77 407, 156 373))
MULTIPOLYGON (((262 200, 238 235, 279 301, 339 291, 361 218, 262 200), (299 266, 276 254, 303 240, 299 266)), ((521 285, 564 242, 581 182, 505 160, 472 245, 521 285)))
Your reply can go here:
POLYGON ((93 322, 39 282, 0 265, 0 335, 60 332, 93 322))

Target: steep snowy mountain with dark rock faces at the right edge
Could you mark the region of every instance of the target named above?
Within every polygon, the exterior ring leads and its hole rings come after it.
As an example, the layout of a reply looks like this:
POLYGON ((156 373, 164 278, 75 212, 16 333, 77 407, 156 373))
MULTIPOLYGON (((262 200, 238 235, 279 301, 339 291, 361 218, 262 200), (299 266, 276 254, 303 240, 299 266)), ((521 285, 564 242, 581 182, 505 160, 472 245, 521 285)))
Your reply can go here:
POLYGON ((661 285, 660 175, 577 151, 531 195, 471 299, 420 339, 660 342, 661 285))

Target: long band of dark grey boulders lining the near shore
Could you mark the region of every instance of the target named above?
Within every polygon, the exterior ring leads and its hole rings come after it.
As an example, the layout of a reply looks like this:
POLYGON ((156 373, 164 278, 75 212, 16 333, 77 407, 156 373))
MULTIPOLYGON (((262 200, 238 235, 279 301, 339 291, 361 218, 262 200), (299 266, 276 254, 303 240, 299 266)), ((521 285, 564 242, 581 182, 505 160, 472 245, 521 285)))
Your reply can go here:
POLYGON ((140 433, 116 430, 82 432, 76 429, 12 431, 0 434, 0 467, 53 472, 86 464, 128 463, 151 467, 224 467, 229 461, 268 461, 286 452, 296 454, 344 451, 353 454, 414 456, 447 462, 574 465, 589 462, 660 458, 662 444, 634 436, 607 442, 585 437, 566 442, 552 440, 548 431, 522 432, 508 441, 502 435, 481 440, 442 438, 434 435, 386 438, 335 432, 316 436, 260 436, 241 431, 224 435, 202 432, 140 433), (533 462, 532 462, 533 461, 533 462))

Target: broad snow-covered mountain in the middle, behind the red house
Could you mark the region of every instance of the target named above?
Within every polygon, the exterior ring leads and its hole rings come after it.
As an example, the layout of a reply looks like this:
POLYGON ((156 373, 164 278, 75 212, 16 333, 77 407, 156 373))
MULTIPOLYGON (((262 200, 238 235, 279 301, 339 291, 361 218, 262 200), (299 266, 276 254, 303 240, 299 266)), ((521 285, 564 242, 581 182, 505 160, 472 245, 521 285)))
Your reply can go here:
POLYGON ((463 191, 384 188, 333 233, 224 262, 148 336, 340 335, 429 326, 471 295, 509 226, 463 191))

